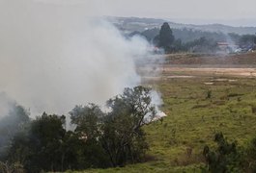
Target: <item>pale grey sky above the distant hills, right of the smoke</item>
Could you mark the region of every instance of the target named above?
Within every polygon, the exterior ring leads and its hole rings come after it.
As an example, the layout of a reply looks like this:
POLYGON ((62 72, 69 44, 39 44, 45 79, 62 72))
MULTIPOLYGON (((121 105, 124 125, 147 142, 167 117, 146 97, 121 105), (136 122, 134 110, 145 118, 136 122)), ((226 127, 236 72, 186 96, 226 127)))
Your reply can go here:
POLYGON ((105 0, 115 15, 256 25, 256 0, 105 0))

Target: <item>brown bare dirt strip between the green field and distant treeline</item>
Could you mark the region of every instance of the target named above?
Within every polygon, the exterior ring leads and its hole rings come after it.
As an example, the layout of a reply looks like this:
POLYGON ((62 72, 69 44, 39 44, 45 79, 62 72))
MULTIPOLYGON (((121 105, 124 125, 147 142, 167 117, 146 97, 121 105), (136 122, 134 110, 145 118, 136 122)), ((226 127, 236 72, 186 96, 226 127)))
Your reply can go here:
POLYGON ((145 80, 160 78, 249 77, 256 78, 256 53, 242 55, 167 55, 156 66, 139 68, 145 80))

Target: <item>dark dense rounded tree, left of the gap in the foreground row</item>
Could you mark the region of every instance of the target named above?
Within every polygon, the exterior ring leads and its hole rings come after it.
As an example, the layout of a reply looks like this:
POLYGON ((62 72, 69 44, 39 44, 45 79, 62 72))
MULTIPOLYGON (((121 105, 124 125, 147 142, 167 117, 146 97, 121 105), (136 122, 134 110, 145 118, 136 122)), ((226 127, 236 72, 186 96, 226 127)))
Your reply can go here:
POLYGON ((31 124, 29 134, 33 165, 39 165, 45 171, 61 170, 61 145, 66 131, 65 116, 43 115, 31 124))

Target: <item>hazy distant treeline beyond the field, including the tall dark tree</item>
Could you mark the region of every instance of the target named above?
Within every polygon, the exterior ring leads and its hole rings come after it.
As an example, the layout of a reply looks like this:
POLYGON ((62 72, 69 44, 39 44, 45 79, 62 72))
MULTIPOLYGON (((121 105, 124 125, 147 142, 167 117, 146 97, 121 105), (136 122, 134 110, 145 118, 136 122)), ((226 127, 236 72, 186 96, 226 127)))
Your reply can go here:
POLYGON ((128 37, 132 36, 145 37, 156 47, 163 48, 166 53, 176 52, 196 52, 196 53, 216 53, 221 51, 217 42, 227 42, 231 46, 245 48, 246 50, 255 49, 256 35, 237 35, 230 33, 213 33, 191 29, 171 29, 168 23, 163 23, 160 29, 154 28, 146 30, 142 33, 132 32, 128 37), (164 39, 165 45, 162 45, 164 39))

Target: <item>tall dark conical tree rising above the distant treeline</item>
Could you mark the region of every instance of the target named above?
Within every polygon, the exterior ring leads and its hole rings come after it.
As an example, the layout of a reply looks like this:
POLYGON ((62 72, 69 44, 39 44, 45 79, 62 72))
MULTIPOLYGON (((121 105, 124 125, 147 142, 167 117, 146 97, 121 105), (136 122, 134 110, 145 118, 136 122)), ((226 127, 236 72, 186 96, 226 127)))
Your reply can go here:
POLYGON ((174 42, 174 36, 172 30, 167 22, 164 22, 161 26, 159 35, 155 37, 156 45, 163 48, 165 52, 172 51, 172 44, 174 42))

